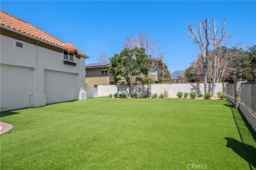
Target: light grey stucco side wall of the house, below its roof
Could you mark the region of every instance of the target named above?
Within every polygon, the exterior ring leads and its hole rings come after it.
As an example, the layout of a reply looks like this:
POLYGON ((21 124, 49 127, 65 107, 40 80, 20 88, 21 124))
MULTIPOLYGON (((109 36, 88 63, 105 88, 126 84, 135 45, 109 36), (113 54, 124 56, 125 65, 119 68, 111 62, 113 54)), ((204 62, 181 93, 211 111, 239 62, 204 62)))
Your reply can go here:
POLYGON ((63 64, 63 53, 1 35, 1 111, 86 99, 85 58, 63 64))

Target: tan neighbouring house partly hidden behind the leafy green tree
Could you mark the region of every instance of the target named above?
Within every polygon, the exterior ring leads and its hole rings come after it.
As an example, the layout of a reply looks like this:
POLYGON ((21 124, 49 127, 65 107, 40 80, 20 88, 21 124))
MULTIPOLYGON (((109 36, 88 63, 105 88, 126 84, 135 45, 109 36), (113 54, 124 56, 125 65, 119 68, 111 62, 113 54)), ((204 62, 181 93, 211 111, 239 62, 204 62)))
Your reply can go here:
MULTIPOLYGON (((159 82, 159 80, 161 79, 163 59, 155 58, 154 62, 157 62, 157 67, 153 69, 153 72, 149 73, 149 77, 155 82, 159 82)), ((124 79, 118 82, 114 81, 113 76, 109 74, 110 65, 111 65, 110 62, 86 64, 85 65, 86 86, 94 87, 96 85, 125 84, 124 79)))

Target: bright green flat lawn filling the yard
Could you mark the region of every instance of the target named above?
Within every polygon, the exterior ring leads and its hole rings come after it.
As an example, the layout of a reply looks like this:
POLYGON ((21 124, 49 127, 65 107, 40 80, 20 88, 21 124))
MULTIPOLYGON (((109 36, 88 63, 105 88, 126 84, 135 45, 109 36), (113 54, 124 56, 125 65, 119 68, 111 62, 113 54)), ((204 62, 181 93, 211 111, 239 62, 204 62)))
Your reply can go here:
POLYGON ((256 135, 224 100, 94 98, 2 112, 1 169, 254 169, 256 135), (188 165, 189 164, 189 165, 188 165))

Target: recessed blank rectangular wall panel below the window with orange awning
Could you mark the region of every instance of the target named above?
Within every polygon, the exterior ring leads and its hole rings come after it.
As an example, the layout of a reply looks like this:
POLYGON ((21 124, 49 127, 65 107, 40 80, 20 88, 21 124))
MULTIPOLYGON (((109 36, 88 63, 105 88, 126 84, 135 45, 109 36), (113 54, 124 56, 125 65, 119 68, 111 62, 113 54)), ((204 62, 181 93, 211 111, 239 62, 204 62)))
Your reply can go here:
POLYGON ((44 94, 46 104, 76 99, 77 74, 44 71, 44 94))

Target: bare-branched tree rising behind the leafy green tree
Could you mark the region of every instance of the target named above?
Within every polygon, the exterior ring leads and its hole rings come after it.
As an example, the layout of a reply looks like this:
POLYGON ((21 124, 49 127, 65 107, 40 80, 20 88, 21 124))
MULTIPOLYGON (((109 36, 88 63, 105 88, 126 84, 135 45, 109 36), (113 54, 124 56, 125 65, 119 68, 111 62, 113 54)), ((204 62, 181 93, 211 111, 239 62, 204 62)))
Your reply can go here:
POLYGON ((146 77, 149 77, 150 73, 153 73, 160 64, 162 64, 163 56, 165 50, 163 46, 158 43, 157 40, 149 38, 148 33, 139 33, 137 37, 128 36, 126 38, 126 43, 123 43, 123 47, 127 48, 144 48, 146 54, 149 56, 150 62, 148 62, 148 74, 146 77), (158 60, 156 60, 156 58, 158 60), (161 58, 161 60, 159 60, 161 58))

